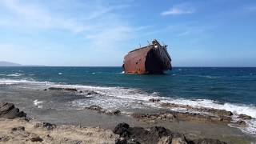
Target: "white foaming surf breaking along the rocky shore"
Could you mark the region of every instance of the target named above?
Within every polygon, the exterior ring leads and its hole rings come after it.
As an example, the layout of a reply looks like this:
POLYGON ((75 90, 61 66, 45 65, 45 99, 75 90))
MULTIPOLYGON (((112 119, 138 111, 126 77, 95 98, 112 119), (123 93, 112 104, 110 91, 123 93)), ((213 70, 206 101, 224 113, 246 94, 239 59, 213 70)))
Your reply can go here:
MULTIPOLYGON (((10 80, 0 79, 0 84, 41 84, 43 86, 54 86, 62 88, 75 88, 78 90, 93 90, 97 92, 93 98, 85 98, 74 100, 71 102, 73 106, 90 106, 99 105, 107 109, 143 109, 143 108, 161 108, 159 103, 149 102, 150 98, 158 98, 161 102, 169 102, 178 105, 189 105, 194 107, 206 107, 219 110, 231 111, 235 116, 238 114, 246 114, 253 119, 246 121, 246 127, 240 128, 242 131, 248 134, 256 134, 256 106, 234 104, 229 102, 217 102, 210 99, 185 99, 185 98, 167 98, 161 97, 158 92, 146 93, 142 90, 124 87, 107 87, 107 86, 82 86, 82 85, 66 85, 58 84, 54 82, 36 82, 29 80, 10 80), (143 105, 141 104, 143 103, 143 105)), ((38 101, 34 101, 34 104, 38 104, 38 101)), ((234 119, 235 120, 235 119, 234 119)))

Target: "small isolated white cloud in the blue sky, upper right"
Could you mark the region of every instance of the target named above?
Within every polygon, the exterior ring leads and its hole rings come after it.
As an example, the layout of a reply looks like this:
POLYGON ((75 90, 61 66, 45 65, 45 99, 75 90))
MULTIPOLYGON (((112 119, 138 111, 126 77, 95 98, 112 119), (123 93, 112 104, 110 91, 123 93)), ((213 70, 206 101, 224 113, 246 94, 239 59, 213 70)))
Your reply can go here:
POLYGON ((161 15, 179 15, 179 14, 193 14, 196 10, 188 4, 179 4, 170 8, 170 10, 163 11, 161 15))

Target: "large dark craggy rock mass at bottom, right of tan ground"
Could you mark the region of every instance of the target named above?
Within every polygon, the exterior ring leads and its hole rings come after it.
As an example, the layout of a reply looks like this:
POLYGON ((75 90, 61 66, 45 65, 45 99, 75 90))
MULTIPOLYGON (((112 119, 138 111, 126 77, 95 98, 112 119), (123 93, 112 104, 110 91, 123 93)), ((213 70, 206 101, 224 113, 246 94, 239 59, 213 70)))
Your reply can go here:
POLYGON ((147 143, 147 144, 226 144, 216 139, 197 139, 188 141, 184 134, 173 133, 162 126, 153 126, 150 130, 142 127, 130 127, 126 123, 119 123, 114 128, 114 134, 118 134, 121 139, 116 143, 147 143))

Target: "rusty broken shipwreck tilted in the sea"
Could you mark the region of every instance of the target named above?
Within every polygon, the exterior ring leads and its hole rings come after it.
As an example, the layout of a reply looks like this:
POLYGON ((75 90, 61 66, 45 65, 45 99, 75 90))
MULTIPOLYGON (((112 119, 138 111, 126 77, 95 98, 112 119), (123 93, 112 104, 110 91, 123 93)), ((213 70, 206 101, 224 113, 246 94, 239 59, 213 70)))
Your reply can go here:
POLYGON ((154 39, 148 46, 126 54, 122 69, 125 74, 163 74, 163 71, 172 69, 166 47, 154 39))

